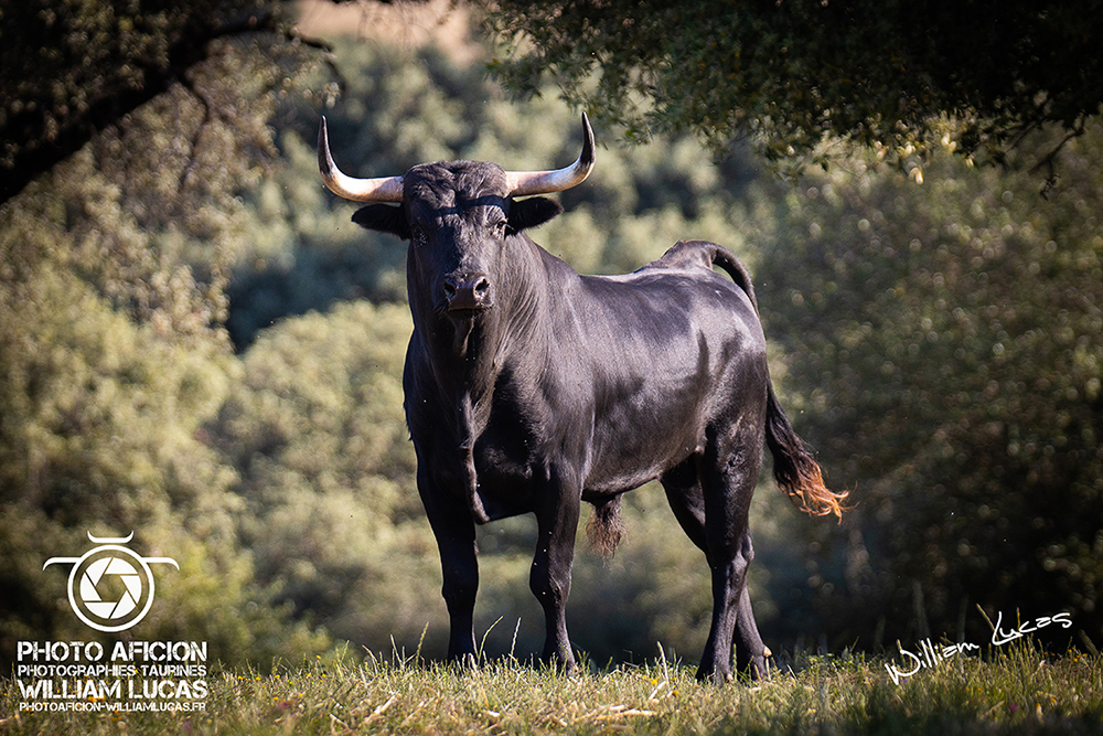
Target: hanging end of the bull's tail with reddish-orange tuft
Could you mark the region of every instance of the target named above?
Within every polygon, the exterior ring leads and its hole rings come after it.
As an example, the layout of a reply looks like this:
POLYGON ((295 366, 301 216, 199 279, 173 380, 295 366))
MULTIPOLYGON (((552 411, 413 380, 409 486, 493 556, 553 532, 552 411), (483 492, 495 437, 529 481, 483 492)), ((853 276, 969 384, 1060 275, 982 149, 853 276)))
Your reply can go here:
POLYGON ((773 477, 779 488, 801 511, 816 516, 835 514, 842 520, 847 492, 835 493, 824 486, 820 465, 789 424, 773 386, 767 384, 767 392, 765 444, 773 455, 773 477))

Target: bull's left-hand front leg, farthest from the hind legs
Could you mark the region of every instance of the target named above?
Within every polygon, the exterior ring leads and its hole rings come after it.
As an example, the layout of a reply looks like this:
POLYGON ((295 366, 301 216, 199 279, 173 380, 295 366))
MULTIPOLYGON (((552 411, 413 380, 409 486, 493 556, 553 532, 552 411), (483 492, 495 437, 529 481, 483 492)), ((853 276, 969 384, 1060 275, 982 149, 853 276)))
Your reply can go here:
POLYGON ((448 659, 473 663, 475 658, 474 609, 479 590, 475 525, 462 497, 442 489, 418 465, 417 484, 432 534, 440 552, 445 579, 441 594, 448 607, 448 659))

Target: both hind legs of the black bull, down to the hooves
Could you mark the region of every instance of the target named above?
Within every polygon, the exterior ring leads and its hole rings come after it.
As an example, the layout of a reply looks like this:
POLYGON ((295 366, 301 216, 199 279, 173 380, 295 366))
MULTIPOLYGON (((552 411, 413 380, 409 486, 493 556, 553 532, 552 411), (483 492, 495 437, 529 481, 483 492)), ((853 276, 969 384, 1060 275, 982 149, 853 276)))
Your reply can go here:
POLYGON ((747 568, 754 556, 748 513, 762 462, 761 444, 757 447, 733 452, 724 462, 708 452, 663 477, 675 518, 705 553, 711 572, 713 621, 697 670, 700 680, 719 683, 731 676, 732 643, 738 671, 749 669, 754 678, 765 674, 765 647, 747 589, 747 568))

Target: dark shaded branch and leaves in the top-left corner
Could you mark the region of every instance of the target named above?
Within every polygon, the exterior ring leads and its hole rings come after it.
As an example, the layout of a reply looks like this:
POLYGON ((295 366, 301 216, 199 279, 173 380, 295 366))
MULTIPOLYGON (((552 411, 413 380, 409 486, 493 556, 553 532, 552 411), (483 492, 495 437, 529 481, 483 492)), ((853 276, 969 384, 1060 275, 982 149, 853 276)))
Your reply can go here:
MULTIPOLYGON (((28 0, 0 10, 0 202, 39 174, 78 151, 105 128, 162 93, 189 89, 205 107, 208 122, 243 124, 231 108, 238 97, 231 77, 215 88, 204 70, 237 61, 255 45, 254 62, 301 61, 286 43, 281 3, 257 0, 164 0, 65 2, 28 0), (292 61, 296 60, 296 61, 292 61), (229 84, 227 84, 229 83, 229 84)), ((282 73, 236 78, 247 87, 280 87, 282 73)), ((229 71, 229 70, 224 70, 229 71)), ((238 70, 244 72, 244 70, 238 70)), ((263 145, 263 137, 248 145, 263 145)), ((207 141, 192 139, 191 146, 207 141)), ((175 157, 189 148, 176 141, 157 149, 175 157)), ((126 151, 120 151, 126 153, 126 151)), ((125 156, 124 156, 125 157, 125 156)))

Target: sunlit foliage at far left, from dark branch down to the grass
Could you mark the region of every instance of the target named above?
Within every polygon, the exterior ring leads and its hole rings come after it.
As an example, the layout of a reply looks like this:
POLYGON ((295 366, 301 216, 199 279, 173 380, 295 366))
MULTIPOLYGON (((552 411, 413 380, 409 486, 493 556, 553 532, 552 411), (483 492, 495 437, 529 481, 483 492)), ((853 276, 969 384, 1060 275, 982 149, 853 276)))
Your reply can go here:
POLYGON ((201 575, 160 589, 146 632, 225 661, 328 647, 254 582, 236 474, 204 428, 240 370, 224 267, 275 100, 260 76, 246 104, 231 76, 266 64, 227 46, 0 206, 0 662, 20 638, 94 633, 42 569, 89 532, 132 531, 201 575))

